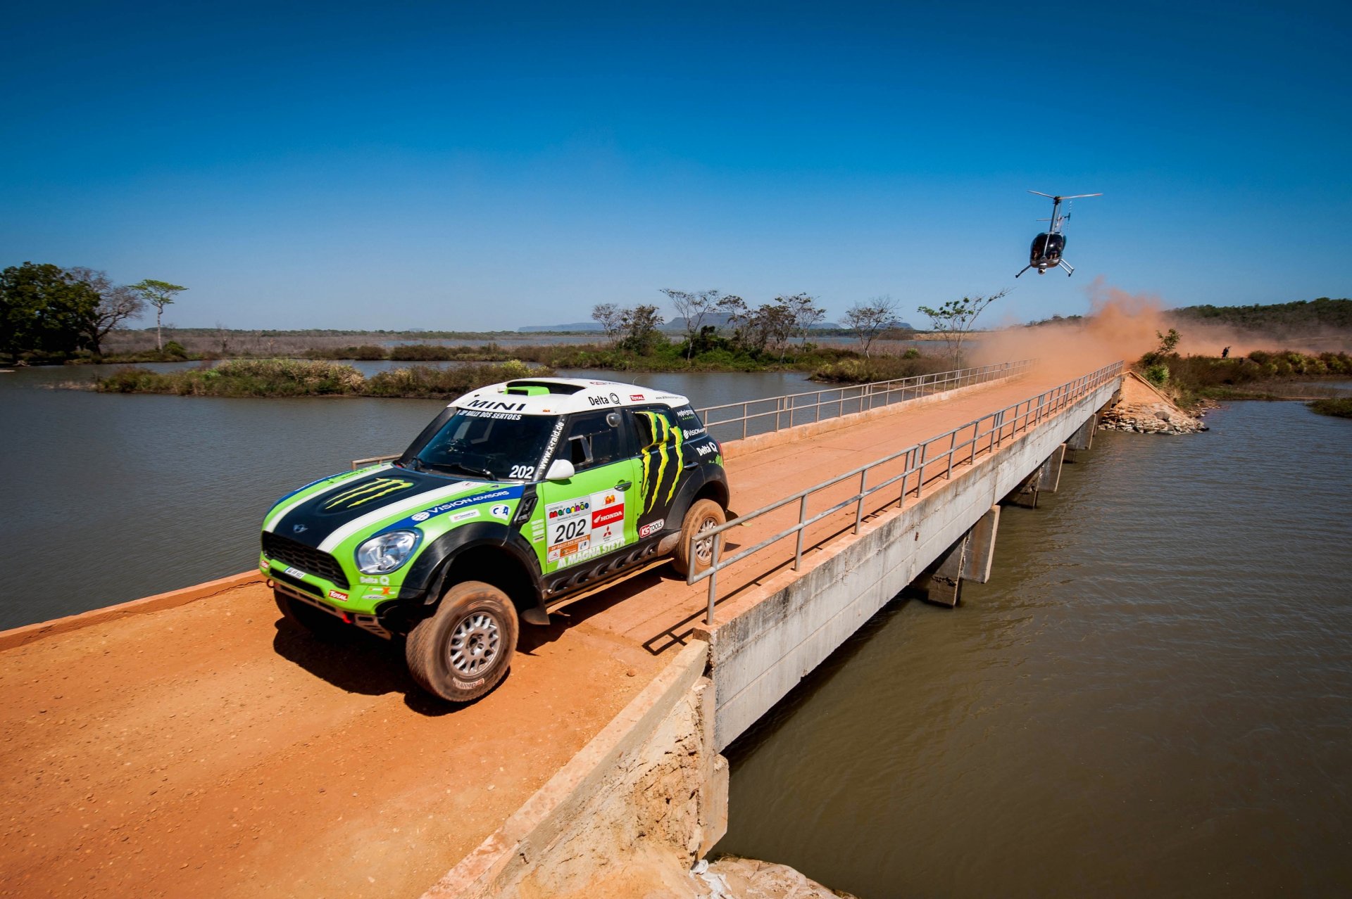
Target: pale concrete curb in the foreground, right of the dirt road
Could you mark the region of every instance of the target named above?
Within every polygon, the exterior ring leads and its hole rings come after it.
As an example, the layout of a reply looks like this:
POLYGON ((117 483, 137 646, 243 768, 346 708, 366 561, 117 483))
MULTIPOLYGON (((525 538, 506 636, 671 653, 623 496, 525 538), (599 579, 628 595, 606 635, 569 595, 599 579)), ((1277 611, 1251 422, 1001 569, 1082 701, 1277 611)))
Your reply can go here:
POLYGON ((637 751, 704 674, 708 644, 692 643, 506 823, 438 880, 423 899, 495 896, 530 872, 618 761, 637 751))

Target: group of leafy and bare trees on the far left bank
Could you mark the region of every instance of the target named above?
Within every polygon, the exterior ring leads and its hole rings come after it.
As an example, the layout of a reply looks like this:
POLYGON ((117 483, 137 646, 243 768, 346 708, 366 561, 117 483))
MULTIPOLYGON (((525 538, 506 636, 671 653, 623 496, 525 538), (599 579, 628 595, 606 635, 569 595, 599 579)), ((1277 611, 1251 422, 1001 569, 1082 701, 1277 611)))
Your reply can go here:
POLYGON ((103 355, 103 342, 123 321, 155 309, 155 346, 164 351, 165 306, 188 288, 146 278, 114 283, 105 271, 24 262, 0 271, 0 356, 64 359, 103 355))

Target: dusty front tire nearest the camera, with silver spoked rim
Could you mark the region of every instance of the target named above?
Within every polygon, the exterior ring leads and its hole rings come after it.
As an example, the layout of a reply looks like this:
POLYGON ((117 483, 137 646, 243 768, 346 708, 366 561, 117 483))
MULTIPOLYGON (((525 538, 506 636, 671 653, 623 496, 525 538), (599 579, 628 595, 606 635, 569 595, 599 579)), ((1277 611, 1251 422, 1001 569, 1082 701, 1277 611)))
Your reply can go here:
POLYGON ((408 632, 404 657, 418 686, 449 702, 472 702, 507 676, 516 651, 516 607, 481 580, 457 583, 435 614, 408 632))

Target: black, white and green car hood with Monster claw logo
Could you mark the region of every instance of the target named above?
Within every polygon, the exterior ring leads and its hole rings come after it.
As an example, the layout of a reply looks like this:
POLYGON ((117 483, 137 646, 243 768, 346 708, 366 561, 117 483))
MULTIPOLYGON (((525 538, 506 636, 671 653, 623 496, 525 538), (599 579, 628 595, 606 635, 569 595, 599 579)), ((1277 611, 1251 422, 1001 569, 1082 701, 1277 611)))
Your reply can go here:
MULTIPOLYGON (((439 506, 484 493, 502 495, 503 490, 498 482, 457 481, 384 466, 356 478, 322 481, 284 498, 268 514, 264 530, 329 552, 357 533, 403 521, 412 526, 430 517, 423 513, 439 506)), ((519 495, 521 487, 507 490, 519 495)))

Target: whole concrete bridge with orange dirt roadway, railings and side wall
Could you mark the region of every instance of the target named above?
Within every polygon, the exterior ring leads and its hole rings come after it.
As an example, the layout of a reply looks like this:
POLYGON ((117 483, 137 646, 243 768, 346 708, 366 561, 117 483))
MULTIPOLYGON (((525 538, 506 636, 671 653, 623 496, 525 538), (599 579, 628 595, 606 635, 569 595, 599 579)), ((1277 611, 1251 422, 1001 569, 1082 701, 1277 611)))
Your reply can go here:
POLYGON ((0 783, 24 809, 3 880, 566 895, 654 859, 671 877, 726 829, 718 753, 909 584, 953 606, 984 580, 999 503, 1056 489, 1121 377, 1018 363, 708 410, 740 513, 714 568, 579 598, 449 714, 391 653, 288 633, 257 575, 3 633, 0 783))

